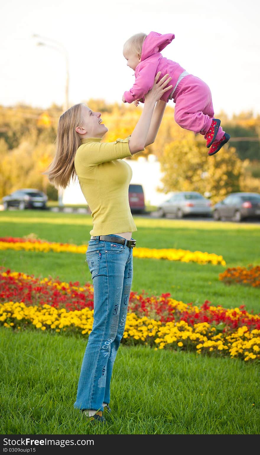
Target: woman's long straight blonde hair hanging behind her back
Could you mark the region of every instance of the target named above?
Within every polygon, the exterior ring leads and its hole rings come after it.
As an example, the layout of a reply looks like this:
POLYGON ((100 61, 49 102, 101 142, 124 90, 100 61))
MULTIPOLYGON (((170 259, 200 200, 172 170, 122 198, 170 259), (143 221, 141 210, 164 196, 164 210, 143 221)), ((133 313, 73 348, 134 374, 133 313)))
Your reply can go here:
POLYGON ((60 116, 56 137, 56 154, 50 166, 43 172, 51 184, 58 188, 66 188, 72 180, 75 181, 76 171, 74 158, 81 145, 76 127, 81 126, 83 104, 75 104, 60 116))

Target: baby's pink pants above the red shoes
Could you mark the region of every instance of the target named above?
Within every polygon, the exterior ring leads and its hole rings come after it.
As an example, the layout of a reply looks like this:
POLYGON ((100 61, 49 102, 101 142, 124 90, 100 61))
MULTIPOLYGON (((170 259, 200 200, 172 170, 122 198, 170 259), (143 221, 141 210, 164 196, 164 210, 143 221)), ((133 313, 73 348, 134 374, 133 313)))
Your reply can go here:
MULTIPOLYGON (((199 77, 189 74, 178 84, 173 94, 174 120, 185 130, 194 131, 205 135, 209 130, 214 109, 209 86, 199 77)), ((219 131, 214 142, 224 135, 219 126, 219 131)))

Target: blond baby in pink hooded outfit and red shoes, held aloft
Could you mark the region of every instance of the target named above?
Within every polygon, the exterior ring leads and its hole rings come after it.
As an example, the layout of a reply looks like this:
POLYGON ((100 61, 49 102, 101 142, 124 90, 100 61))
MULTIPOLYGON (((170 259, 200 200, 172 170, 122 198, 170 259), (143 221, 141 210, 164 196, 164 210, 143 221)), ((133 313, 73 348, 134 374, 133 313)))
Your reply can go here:
POLYGON ((127 66, 135 71, 133 87, 122 96, 124 103, 144 102, 144 95, 153 87, 154 77, 161 71, 159 80, 165 75, 171 76, 173 88, 162 96, 168 102, 175 103, 174 120, 186 130, 204 135, 209 155, 219 152, 229 141, 230 136, 220 126, 220 120, 214 118, 211 91, 199 77, 189 74, 178 63, 163 57, 161 51, 172 42, 174 35, 151 31, 149 35, 138 33, 131 36, 123 46, 123 56, 127 66))

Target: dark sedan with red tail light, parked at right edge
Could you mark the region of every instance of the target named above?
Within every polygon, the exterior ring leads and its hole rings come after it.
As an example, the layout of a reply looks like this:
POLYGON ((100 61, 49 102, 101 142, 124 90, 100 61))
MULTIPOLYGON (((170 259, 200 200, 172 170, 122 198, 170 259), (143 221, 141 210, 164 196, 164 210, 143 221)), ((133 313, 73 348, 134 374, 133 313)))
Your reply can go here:
POLYGON ((249 217, 260 218, 259 193, 230 193, 213 207, 213 218, 216 221, 231 218, 232 221, 240 222, 249 217))

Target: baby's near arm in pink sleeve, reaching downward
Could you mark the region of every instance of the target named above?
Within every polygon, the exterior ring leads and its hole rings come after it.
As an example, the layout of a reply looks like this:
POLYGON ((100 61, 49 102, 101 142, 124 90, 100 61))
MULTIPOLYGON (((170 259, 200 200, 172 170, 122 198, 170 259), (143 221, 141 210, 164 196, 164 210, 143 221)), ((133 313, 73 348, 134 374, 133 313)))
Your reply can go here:
POLYGON ((129 91, 125 91, 123 97, 124 102, 132 103, 135 100, 142 99, 153 87, 154 78, 157 73, 157 65, 147 63, 138 72, 133 87, 129 91))

